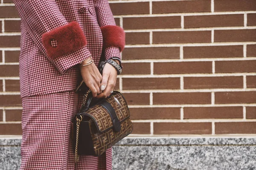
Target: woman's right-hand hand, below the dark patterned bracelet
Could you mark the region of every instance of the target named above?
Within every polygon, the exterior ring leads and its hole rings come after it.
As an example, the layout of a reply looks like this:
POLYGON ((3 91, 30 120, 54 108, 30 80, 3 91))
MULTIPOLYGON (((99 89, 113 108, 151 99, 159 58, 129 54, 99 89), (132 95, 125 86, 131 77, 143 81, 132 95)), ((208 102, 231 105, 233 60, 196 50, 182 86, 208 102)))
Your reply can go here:
MULTIPOLYGON (((119 62, 118 62, 119 63, 119 62)), ((117 71, 112 65, 106 63, 102 70, 102 82, 101 89, 103 92, 96 96, 96 98, 107 98, 111 95, 110 91, 113 91, 116 85, 117 71)))

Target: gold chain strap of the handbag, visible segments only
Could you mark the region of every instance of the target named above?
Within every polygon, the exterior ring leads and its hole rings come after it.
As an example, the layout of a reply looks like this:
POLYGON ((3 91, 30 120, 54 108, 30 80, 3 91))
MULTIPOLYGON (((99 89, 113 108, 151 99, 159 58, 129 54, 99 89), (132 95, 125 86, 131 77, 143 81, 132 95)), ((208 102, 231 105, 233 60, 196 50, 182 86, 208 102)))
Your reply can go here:
MULTIPOLYGON (((83 102, 82 102, 82 107, 84 107, 85 105, 85 102, 87 100, 87 97, 88 97, 88 94, 90 93, 90 89, 86 92, 86 94, 84 94, 84 97, 83 97, 83 102)), ((113 90, 113 91, 118 91, 119 93, 121 93, 120 90, 113 90)), ((78 138, 79 138, 79 127, 80 127, 80 123, 83 119, 83 117, 80 115, 81 119, 77 118, 76 117, 76 150, 75 150, 75 162, 78 162, 79 161, 79 155, 78 155, 78 138)))

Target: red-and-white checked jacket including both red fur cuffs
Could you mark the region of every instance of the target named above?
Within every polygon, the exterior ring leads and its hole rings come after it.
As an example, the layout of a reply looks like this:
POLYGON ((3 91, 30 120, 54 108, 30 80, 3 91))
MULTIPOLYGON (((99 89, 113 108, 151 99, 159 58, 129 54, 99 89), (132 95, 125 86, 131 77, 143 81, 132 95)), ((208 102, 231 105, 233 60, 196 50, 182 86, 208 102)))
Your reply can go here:
POLYGON ((74 90, 76 65, 87 57, 96 66, 101 54, 121 60, 125 32, 108 0, 13 1, 21 18, 21 97, 74 90))

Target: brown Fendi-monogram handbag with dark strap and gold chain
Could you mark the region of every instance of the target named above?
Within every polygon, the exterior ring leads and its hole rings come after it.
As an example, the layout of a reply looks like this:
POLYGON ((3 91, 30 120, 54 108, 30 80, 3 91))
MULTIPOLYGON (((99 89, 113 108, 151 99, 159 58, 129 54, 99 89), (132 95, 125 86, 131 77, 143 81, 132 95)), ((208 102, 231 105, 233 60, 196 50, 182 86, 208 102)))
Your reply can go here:
POLYGON ((89 89, 73 119, 75 161, 79 161, 79 155, 101 156, 132 131, 130 111, 121 91, 113 90, 107 98, 97 99, 89 89))

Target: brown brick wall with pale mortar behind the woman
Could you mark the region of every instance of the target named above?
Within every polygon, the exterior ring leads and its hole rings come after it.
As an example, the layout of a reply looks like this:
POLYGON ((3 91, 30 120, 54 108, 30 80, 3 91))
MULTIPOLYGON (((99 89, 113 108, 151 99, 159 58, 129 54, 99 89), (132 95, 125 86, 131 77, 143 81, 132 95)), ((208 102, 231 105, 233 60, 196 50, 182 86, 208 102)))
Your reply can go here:
MULTIPOLYGON (((134 136, 256 133, 256 0, 109 0, 134 136)), ((0 4, 0 135, 21 134, 20 18, 0 4)))

